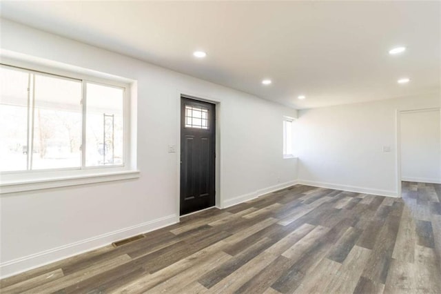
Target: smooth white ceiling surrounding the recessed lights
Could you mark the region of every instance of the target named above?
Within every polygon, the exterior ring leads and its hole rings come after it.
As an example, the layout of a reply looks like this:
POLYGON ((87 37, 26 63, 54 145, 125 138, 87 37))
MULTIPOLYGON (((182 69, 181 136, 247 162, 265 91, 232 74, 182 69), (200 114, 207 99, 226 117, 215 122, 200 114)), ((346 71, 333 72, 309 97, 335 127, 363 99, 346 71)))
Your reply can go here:
POLYGON ((438 91, 440 5, 1 1, 1 15, 281 104, 311 108, 438 91), (390 56, 388 50, 397 45, 407 51, 390 56), (206 51, 207 57, 195 59, 194 50, 206 51), (400 77, 411 82, 398 85, 400 77), (264 78, 273 83, 263 86, 264 78))

